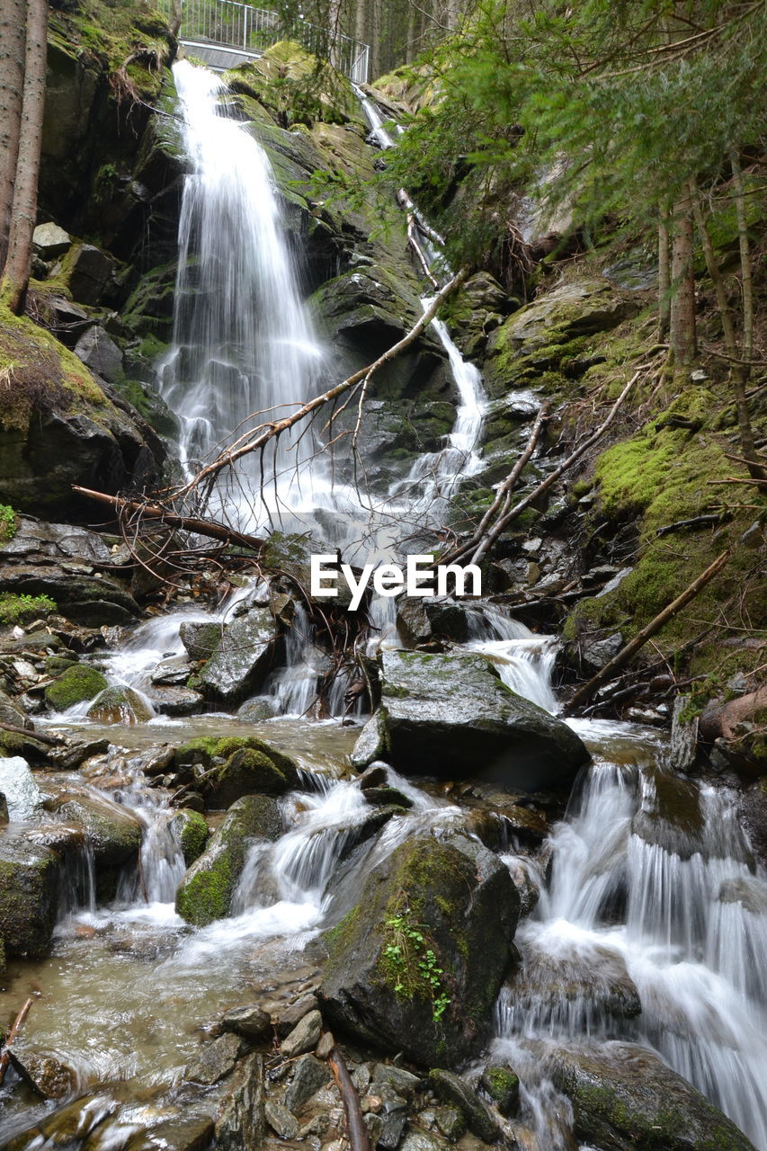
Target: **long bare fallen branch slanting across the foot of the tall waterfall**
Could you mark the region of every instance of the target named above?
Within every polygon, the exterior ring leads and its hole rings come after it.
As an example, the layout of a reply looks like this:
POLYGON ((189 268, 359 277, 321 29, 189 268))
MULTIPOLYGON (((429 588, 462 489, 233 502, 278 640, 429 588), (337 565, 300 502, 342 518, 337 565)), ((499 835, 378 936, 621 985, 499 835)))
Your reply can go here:
POLYGON ((461 270, 456 272, 445 288, 436 294, 430 306, 426 308, 420 319, 412 326, 410 331, 408 331, 402 340, 397 341, 396 344, 388 348, 377 360, 369 364, 367 367, 363 367, 358 372, 355 372, 354 375, 348 376, 345 380, 342 380, 341 383, 336 383, 335 387, 329 388, 321 395, 310 399, 306 404, 303 404, 299 409, 297 409, 297 411, 295 411, 291 416, 286 416, 283 419, 275 420, 272 424, 259 425, 259 427, 253 429, 250 439, 245 437, 244 442, 241 442, 237 448, 228 448, 226 451, 222 451, 221 455, 219 455, 211 464, 200 468, 193 479, 189 480, 189 482, 183 485, 183 487, 177 488, 173 493, 173 498, 181 498, 182 496, 188 495, 199 483, 202 483, 203 480, 210 480, 218 475, 219 472, 222 472, 223 468, 231 467, 231 465, 236 464, 243 456, 248 456, 253 451, 259 451, 259 449, 264 448, 271 440, 282 435, 283 432, 287 432, 295 424, 298 424, 307 416, 312 416, 325 404, 332 403, 332 401, 337 399, 339 396, 349 391, 349 389, 354 388, 360 380, 370 379, 370 376, 378 372, 379 368, 384 367, 385 364, 396 359, 400 352, 404 351, 405 348, 409 348, 410 344, 418 338, 422 331, 428 327, 439 312, 441 305, 463 283, 468 274, 468 268, 461 268, 461 270))

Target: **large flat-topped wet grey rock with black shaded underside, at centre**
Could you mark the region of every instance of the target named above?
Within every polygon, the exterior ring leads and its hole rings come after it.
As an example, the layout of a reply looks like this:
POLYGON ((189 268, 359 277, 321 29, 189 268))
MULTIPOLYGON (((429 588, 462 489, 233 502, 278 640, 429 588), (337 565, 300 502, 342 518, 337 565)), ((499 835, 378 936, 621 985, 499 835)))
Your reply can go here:
POLYGON ((588 762, 575 732, 515 695, 483 656, 385 651, 380 678, 377 735, 363 732, 356 767, 385 759, 405 775, 538 791, 569 787, 588 762))

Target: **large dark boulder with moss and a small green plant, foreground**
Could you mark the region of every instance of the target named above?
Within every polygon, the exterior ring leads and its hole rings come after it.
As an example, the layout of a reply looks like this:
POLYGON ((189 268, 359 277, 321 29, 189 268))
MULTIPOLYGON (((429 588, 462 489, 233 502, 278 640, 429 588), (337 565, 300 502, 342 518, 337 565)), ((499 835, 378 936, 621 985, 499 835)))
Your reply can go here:
POLYGON ((324 1013, 416 1062, 461 1062, 487 1031, 518 908, 508 870, 480 844, 409 840, 325 935, 324 1013))

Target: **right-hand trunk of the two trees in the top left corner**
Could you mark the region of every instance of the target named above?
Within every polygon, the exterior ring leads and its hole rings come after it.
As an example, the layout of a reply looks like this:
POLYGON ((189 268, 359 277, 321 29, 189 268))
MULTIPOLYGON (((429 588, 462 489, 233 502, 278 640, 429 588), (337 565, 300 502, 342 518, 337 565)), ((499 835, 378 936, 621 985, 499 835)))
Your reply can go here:
POLYGON ((47 0, 28 0, 24 99, 18 137, 18 162, 8 258, 2 275, 2 296, 16 315, 24 310, 32 262, 32 233, 37 220, 37 182, 43 144, 45 66, 47 61, 47 0))

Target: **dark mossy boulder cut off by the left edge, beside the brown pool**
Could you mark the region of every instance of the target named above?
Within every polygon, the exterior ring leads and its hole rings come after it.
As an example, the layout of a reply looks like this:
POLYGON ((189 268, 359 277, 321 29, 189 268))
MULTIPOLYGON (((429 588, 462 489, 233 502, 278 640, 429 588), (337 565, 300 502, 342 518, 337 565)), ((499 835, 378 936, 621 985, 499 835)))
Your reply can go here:
POLYGON ((45 959, 51 950, 60 859, 10 825, 0 828, 0 938, 6 955, 45 959))

